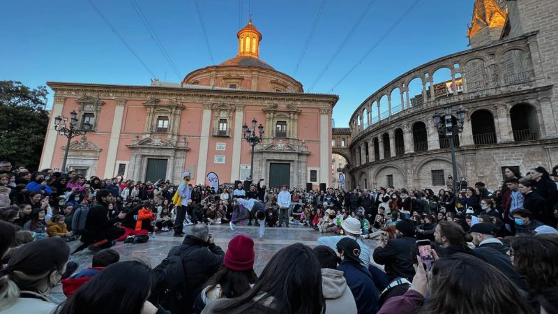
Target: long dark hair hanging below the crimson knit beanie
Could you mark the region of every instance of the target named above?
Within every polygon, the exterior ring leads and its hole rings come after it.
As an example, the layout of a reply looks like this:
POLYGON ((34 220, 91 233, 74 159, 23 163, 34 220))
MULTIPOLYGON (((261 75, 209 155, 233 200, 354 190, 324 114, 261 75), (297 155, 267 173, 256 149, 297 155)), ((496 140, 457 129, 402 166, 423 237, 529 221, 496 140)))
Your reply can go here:
POLYGON ((250 290, 250 285, 257 281, 257 275, 253 268, 247 271, 234 271, 228 269, 225 265, 207 281, 207 290, 213 289, 220 284, 223 289, 223 295, 229 299, 240 297, 242 294, 250 290))

